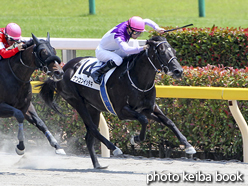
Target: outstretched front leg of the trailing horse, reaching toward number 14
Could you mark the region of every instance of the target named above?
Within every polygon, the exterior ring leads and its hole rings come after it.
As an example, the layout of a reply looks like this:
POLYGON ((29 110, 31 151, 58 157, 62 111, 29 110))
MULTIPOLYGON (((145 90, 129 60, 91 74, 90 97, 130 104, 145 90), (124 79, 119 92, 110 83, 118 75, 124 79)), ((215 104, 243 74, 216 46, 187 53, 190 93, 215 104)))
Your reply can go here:
POLYGON ((32 103, 30 103, 28 111, 25 114, 25 118, 28 122, 35 125, 40 131, 42 131, 45 134, 50 145, 56 149, 56 151, 55 151, 56 154, 65 155, 65 151, 60 147, 57 140, 53 137, 51 132, 48 130, 45 123, 37 115, 32 103))

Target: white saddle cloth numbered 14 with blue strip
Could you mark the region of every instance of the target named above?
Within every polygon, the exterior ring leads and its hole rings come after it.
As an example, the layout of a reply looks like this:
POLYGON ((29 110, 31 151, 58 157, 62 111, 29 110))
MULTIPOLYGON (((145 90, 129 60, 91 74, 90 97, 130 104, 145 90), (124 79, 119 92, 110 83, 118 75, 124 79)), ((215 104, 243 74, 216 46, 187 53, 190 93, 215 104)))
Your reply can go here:
POLYGON ((82 86, 86 86, 95 90, 100 91, 100 96, 102 98, 103 104, 109 113, 116 115, 116 112, 112 106, 109 99, 106 84, 109 77, 114 72, 116 68, 110 69, 106 74, 102 76, 102 83, 98 85, 94 83, 90 74, 101 67, 103 62, 99 61, 97 58, 85 58, 82 59, 80 67, 77 69, 75 74, 71 77, 71 81, 82 86))

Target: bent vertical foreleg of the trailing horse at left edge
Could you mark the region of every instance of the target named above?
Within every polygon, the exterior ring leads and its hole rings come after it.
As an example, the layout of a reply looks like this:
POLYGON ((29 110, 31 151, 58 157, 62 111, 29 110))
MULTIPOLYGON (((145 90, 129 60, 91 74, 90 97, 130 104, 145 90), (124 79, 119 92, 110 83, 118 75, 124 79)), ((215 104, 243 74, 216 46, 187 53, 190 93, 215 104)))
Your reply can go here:
POLYGON ((18 135, 17 135, 17 138, 19 140, 19 144, 17 145, 16 153, 18 155, 23 155, 24 149, 25 149, 24 132, 23 132, 24 115, 20 110, 12 107, 6 103, 1 103, 0 104, 0 117, 12 117, 12 116, 14 116, 19 123, 19 129, 18 129, 18 135))

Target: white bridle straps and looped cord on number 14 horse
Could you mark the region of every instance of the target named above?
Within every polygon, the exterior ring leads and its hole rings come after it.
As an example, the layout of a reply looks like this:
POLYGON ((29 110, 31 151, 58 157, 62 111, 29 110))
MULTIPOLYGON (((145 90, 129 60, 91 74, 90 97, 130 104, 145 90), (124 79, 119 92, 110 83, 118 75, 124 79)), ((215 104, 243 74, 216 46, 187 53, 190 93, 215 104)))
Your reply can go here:
MULTIPOLYGON (((155 46, 155 55, 156 55, 156 57, 158 58, 158 61, 159 61, 159 63, 160 63, 161 68, 162 68, 162 69, 163 69, 163 68, 167 68, 167 69, 168 69, 169 63, 170 63, 171 61, 173 61, 174 59, 177 59, 177 58, 176 58, 176 56, 172 56, 172 57, 168 60, 167 65, 166 65, 166 66, 164 65, 164 63, 162 62, 161 57, 160 57, 159 54, 158 54, 158 50, 157 50, 157 48, 159 47, 159 45, 161 45, 161 44, 163 44, 163 43, 168 43, 168 41, 161 41, 160 43, 158 43, 158 44, 155 46)), ((157 69, 157 68, 155 67, 155 65, 153 64, 152 60, 150 59, 150 57, 149 57, 149 55, 148 55, 148 50, 149 50, 149 49, 147 48, 146 51, 145 51, 146 57, 147 57, 148 61, 150 62, 150 64, 151 64, 152 67, 154 68, 155 72, 157 72, 157 73, 161 72, 161 70, 159 70, 159 69, 157 69)), ((134 58, 134 60, 135 60, 135 58, 134 58)), ((130 74, 129 74, 129 62, 127 63, 127 76, 128 76, 129 81, 131 82, 131 85, 132 85, 135 89, 137 89, 138 91, 140 91, 140 92, 148 92, 148 91, 150 91, 151 89, 153 89, 154 86, 155 86, 155 82, 153 82, 153 85, 152 85, 150 88, 148 88, 148 89, 145 89, 145 90, 144 90, 144 89, 138 88, 138 87, 134 84, 134 82, 132 81, 131 76, 130 76, 130 74)))

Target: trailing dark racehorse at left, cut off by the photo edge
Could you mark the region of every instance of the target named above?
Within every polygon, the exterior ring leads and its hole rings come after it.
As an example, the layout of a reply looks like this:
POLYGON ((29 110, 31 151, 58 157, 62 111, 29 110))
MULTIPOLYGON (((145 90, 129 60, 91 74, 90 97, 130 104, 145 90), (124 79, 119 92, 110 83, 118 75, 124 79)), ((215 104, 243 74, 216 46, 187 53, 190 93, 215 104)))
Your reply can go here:
POLYGON ((31 102, 32 86, 30 77, 34 70, 40 69, 48 73, 54 81, 62 79, 64 71, 59 65, 61 60, 50 44, 50 35, 46 40, 39 40, 32 34, 22 47, 25 49, 15 56, 0 61, 0 117, 14 116, 19 123, 16 152, 23 155, 25 152, 23 121, 26 119, 41 130, 51 146, 58 154, 65 154, 47 126, 37 115, 31 102))

